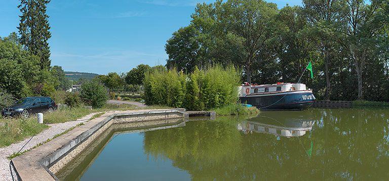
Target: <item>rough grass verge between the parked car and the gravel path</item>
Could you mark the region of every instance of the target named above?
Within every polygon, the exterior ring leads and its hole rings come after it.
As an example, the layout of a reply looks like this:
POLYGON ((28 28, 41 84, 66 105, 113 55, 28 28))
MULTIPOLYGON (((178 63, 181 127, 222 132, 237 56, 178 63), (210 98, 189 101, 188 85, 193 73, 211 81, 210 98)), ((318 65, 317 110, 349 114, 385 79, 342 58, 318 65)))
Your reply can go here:
MULTIPOLYGON (((106 112, 106 111, 124 111, 124 110, 136 110, 136 109, 164 109, 166 106, 149 106, 147 108, 140 108, 133 105, 116 105, 106 104, 99 109, 85 109, 84 107, 78 108, 62 108, 51 113, 44 114, 44 122, 49 123, 61 123, 66 121, 73 121, 82 118, 88 114, 94 112, 106 112)), ((101 115, 101 114, 100 114, 101 115)), ((94 116, 96 117, 96 116, 94 116)), ((24 140, 32 135, 38 134, 49 126, 46 124, 38 124, 36 117, 30 117, 27 119, 13 118, 13 119, 0 119, 0 147, 9 146, 13 143, 24 140)))

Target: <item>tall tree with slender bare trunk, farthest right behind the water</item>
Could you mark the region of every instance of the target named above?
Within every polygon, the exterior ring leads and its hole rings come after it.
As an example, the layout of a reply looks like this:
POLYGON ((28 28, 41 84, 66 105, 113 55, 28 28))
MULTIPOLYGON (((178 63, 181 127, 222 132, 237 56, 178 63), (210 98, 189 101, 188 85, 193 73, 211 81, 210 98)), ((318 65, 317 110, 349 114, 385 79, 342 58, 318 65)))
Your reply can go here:
POLYGON ((358 99, 363 99, 363 71, 367 61, 371 60, 377 49, 378 32, 385 26, 385 18, 381 13, 380 3, 370 4, 363 0, 343 1, 344 28, 339 30, 342 47, 348 58, 353 60, 358 79, 358 99))

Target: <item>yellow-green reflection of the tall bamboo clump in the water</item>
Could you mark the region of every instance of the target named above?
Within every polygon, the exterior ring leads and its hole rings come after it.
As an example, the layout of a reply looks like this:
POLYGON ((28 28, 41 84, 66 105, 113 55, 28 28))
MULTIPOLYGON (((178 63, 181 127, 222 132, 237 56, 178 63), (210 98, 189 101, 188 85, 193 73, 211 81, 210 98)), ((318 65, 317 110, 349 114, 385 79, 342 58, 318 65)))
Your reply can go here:
POLYGON ((154 159, 171 159, 190 173, 206 168, 213 175, 212 169, 240 156, 240 137, 235 121, 187 122, 185 127, 145 132, 144 150, 154 159))

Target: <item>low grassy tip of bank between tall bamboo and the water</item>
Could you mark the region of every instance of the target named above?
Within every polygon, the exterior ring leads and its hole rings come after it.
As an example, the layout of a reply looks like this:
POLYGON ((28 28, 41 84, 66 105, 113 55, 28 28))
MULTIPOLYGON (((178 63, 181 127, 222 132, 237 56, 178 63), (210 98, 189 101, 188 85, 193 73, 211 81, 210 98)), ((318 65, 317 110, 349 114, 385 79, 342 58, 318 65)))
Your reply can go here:
POLYGON ((246 107, 241 104, 231 104, 225 107, 213 109, 216 115, 229 116, 229 115, 256 115, 259 110, 255 107, 246 107))

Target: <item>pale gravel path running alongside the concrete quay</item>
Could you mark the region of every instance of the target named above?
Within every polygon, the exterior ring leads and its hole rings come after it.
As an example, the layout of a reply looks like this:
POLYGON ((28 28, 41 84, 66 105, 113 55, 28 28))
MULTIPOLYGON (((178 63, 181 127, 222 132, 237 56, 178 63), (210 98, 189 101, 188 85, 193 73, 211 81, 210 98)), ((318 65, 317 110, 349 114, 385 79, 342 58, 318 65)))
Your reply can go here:
MULTIPOLYGON (((113 112, 113 111, 112 111, 113 112)), ((7 156, 12 155, 13 153, 19 152, 19 150, 24 146, 24 148, 20 151, 23 152, 25 150, 29 150, 32 147, 34 147, 37 144, 43 143, 47 141, 48 139, 53 138, 56 134, 62 133, 65 130, 79 124, 85 121, 88 121, 94 114, 98 113, 91 113, 85 117, 82 117, 80 119, 77 119, 76 121, 68 121, 64 123, 56 123, 56 124, 48 124, 50 127, 43 132, 25 139, 22 142, 12 144, 8 147, 0 148, 0 180, 13 180, 17 179, 15 175, 15 170, 12 168, 13 177, 11 175, 10 171, 10 160, 7 158, 7 156), (30 141, 31 139, 31 141, 30 141)))

